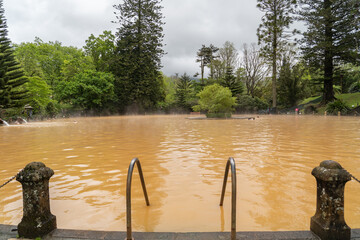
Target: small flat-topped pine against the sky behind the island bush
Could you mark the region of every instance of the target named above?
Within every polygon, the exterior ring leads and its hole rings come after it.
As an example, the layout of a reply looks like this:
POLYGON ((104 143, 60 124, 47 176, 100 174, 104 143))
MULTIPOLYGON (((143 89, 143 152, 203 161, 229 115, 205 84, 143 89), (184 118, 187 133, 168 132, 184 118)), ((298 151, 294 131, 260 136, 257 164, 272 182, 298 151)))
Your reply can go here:
MULTIPOLYGON (((215 53, 219 51, 219 48, 215 47, 214 45, 210 44, 209 47, 202 45, 202 47, 197 52, 197 59, 196 62, 200 63, 200 70, 201 70, 201 84, 204 85, 204 72, 205 67, 209 67, 210 64, 216 59, 215 53)), ((210 68, 210 78, 213 77, 213 69, 210 68)))

